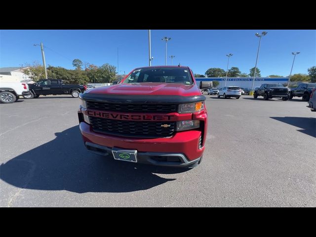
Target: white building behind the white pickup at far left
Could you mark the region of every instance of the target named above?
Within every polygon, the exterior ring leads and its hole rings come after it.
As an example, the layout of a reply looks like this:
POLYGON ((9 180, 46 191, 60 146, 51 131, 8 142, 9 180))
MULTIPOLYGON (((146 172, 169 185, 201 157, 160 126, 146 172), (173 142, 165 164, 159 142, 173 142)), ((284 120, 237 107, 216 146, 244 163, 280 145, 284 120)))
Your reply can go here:
MULTIPOLYGON (((0 68, 0 81, 1 82, 21 82, 22 80, 31 81, 30 77, 23 73, 21 67, 0 68)), ((28 81, 25 81, 28 82, 28 81)))

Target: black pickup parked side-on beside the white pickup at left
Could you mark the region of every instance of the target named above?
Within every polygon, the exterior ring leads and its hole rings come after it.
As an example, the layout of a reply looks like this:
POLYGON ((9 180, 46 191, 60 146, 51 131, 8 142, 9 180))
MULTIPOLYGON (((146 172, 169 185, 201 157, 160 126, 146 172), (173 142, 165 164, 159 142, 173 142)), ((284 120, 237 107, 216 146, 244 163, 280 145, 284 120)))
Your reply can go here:
POLYGON ((28 84, 30 95, 23 95, 25 99, 39 98, 40 95, 72 95, 78 98, 86 89, 86 85, 65 85, 61 79, 41 79, 34 84, 28 84))

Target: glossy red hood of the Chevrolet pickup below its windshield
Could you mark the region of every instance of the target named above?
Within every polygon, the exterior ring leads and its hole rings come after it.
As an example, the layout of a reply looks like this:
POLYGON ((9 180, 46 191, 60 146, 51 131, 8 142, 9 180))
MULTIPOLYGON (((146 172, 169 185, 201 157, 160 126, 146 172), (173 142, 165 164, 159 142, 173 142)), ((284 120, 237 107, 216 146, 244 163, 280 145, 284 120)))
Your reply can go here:
POLYGON ((180 83, 123 83, 111 86, 103 86, 90 89, 85 94, 107 95, 178 95, 196 96, 201 95, 196 84, 185 85, 180 83))

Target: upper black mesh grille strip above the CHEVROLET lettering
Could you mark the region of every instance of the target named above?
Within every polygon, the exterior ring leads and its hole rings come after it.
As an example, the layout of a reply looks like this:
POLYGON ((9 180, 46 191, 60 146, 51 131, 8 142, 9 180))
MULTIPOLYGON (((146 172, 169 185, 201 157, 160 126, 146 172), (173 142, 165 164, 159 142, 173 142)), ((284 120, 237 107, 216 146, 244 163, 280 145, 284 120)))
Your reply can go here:
POLYGON ((177 112, 177 105, 168 104, 119 104, 87 101, 87 108, 101 111, 172 113, 177 112))

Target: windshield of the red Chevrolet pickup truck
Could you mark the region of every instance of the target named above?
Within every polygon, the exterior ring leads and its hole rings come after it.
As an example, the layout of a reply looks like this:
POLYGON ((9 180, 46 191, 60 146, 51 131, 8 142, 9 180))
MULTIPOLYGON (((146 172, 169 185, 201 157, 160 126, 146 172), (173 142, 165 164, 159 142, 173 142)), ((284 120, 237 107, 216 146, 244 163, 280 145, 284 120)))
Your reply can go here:
POLYGON ((141 68, 132 72, 123 83, 193 83, 187 68, 141 68))

